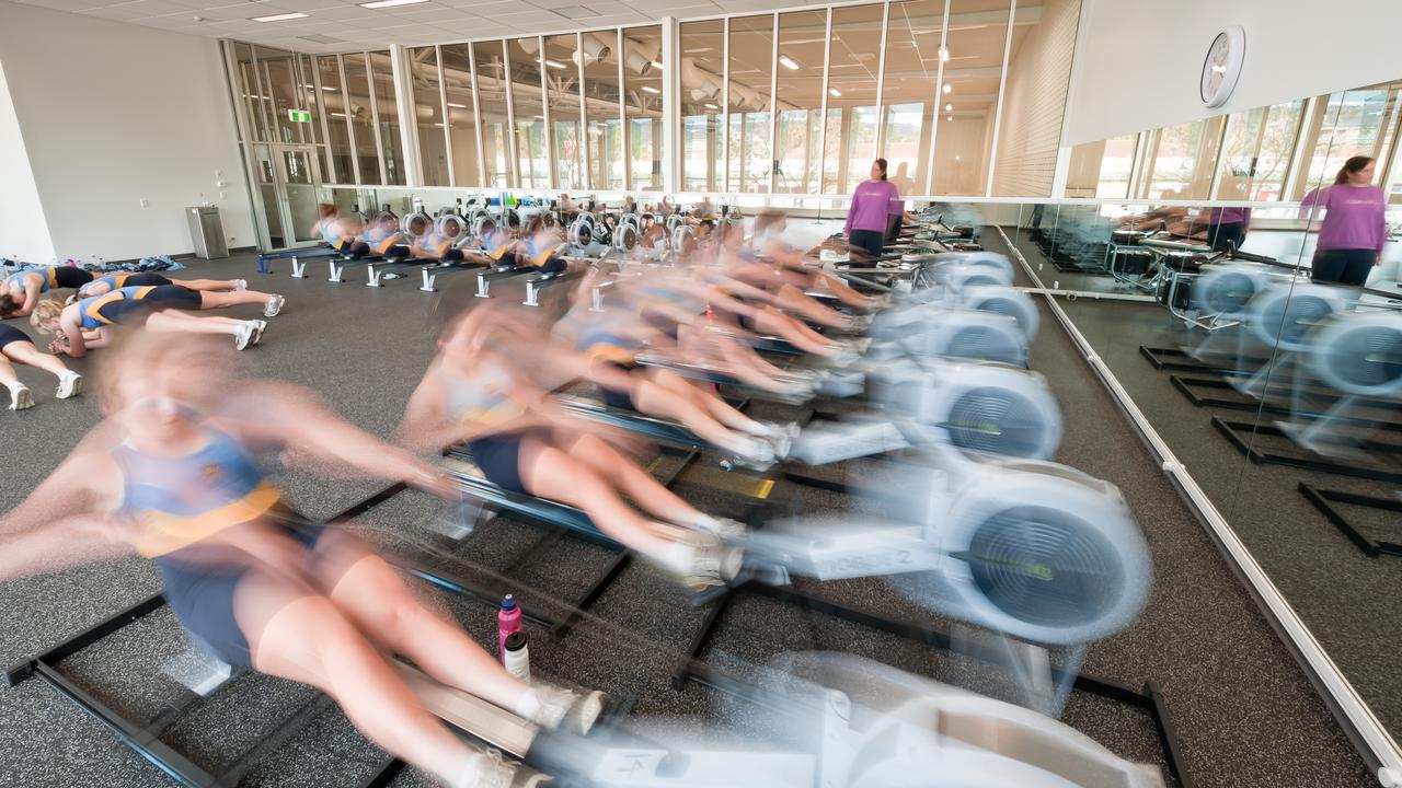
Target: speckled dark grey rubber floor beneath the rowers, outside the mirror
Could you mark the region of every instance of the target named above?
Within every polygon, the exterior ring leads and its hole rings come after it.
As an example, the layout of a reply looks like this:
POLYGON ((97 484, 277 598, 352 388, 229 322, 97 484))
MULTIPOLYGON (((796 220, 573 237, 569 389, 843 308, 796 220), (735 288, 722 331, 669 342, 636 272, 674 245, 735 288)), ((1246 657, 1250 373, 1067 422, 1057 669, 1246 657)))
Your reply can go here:
MULTIPOLYGON (((987 236, 986 236, 987 238, 987 236)), ((286 311, 271 321, 259 348, 244 353, 262 376, 315 388, 348 419, 381 436, 397 425, 404 402, 432 356, 433 296, 418 282, 400 279, 380 290, 350 282, 325 282, 325 266, 290 279, 289 265, 271 276, 254 273, 251 255, 195 262, 189 276, 244 276, 254 289, 287 296, 286 311)), ((443 285, 465 286, 457 275, 443 285)), ((498 297, 519 300, 520 289, 498 297)), ((248 315, 255 310, 248 308, 248 315)), ((1155 559, 1154 593, 1141 620, 1089 649, 1085 670, 1126 684, 1147 680, 1162 688, 1178 729, 1183 766, 1197 785, 1357 787, 1373 782, 1323 701, 1276 639, 1199 523, 1182 505, 1131 433, 1110 397, 1094 380, 1068 338, 1043 314, 1032 353, 1066 414, 1060 460, 1117 484, 1130 501, 1155 559)), ((90 363, 74 365, 88 369, 90 363)), ((34 370, 21 377, 36 393, 38 408, 0 412, 6 444, 0 508, 18 503, 97 421, 94 397, 55 401, 52 383, 34 370)), ((756 407, 770 418, 801 411, 756 407)), ((677 489, 701 509, 737 513, 743 501, 715 489, 725 481, 714 458, 680 480, 677 489)), ((824 471, 827 473, 827 471, 824 471)), ((869 464, 836 473, 879 484, 869 464)), ((335 481, 311 473, 285 473, 280 484, 293 503, 313 516, 331 515, 384 485, 335 481)), ((844 509, 854 502, 834 494, 795 494, 801 510, 844 509)), ((439 506, 419 494, 401 494, 369 512, 356 527, 387 550, 412 554, 447 571, 489 576, 510 566, 541 530, 506 517, 451 545, 429 527, 439 506)), ((527 609, 551 610, 551 597, 578 592, 610 561, 610 552, 573 540, 555 543, 509 580, 527 609)), ((0 660, 11 663, 66 638, 157 590, 149 564, 129 559, 52 576, 0 585, 0 660)), ((805 585, 813 587, 813 585, 805 585)), ((908 603, 879 580, 829 583, 823 595, 864 609, 911 613, 908 603)), ((451 610, 484 644, 495 637, 494 611, 484 604, 425 590, 451 610)), ((527 625, 533 670, 635 700, 634 724, 665 718, 694 725, 715 721, 736 735, 777 738, 747 707, 723 701, 695 684, 674 691, 670 677, 702 610, 649 568, 634 564, 564 639, 527 625)), ((174 618, 158 611, 118 635, 70 658, 63 669, 100 698, 132 716, 153 716, 172 695, 163 663, 185 649, 174 618)), ((744 673, 784 651, 829 649, 868 655, 924 676, 1009 697, 1008 681, 960 658, 833 618, 812 621, 795 607, 761 597, 735 604, 707 659, 744 673)), ((196 763, 219 768, 258 735, 276 728, 308 698, 308 691, 265 677, 238 679, 165 733, 196 763)), ((1143 712, 1073 693, 1066 722, 1112 750, 1161 763, 1152 722, 1143 712)), ((0 690, 0 785, 168 785, 97 722, 38 681, 0 690)), ((381 754, 336 709, 318 715, 280 750, 261 761, 250 785, 355 785, 381 754)), ((423 784, 409 774, 397 785, 423 784)))

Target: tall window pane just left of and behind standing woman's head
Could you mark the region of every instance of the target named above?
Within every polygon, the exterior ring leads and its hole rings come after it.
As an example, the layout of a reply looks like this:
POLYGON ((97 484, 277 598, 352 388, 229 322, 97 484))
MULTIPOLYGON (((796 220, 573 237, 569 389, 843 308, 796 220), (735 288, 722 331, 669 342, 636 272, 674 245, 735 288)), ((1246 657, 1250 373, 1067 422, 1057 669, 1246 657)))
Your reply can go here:
POLYGON ((823 193, 850 192, 876 158, 880 20, 880 6, 833 8, 823 193))

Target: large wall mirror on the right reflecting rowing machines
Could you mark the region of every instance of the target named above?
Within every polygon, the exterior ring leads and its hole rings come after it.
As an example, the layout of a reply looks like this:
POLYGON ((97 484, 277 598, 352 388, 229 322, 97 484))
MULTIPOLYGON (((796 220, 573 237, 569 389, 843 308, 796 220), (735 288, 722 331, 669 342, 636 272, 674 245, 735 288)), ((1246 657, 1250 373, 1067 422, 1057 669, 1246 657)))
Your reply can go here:
POLYGON ((1098 199, 1008 233, 1394 738, 1399 87, 1078 146, 1067 193, 1098 199))

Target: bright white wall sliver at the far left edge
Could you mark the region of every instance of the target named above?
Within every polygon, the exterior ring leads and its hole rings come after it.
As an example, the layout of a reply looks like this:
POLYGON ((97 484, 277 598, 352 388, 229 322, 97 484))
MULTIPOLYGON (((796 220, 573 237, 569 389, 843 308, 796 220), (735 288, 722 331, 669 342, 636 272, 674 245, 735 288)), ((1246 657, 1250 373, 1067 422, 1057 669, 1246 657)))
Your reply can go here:
POLYGON ((34 185, 20 121, 10 102, 10 86, 0 63, 0 257, 48 262, 53 241, 43 222, 39 189, 34 185))

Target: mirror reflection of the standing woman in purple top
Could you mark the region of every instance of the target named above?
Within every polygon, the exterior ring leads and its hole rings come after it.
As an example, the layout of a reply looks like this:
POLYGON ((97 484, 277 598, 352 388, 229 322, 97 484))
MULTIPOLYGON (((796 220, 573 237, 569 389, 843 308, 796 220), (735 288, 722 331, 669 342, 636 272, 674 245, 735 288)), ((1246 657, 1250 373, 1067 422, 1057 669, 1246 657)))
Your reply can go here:
POLYGON ((1325 209, 1311 272, 1315 282, 1361 287, 1382 259, 1388 198, 1373 185, 1373 167, 1371 157, 1354 156, 1343 163, 1332 186, 1315 189, 1300 202, 1301 216, 1311 219, 1325 209))

